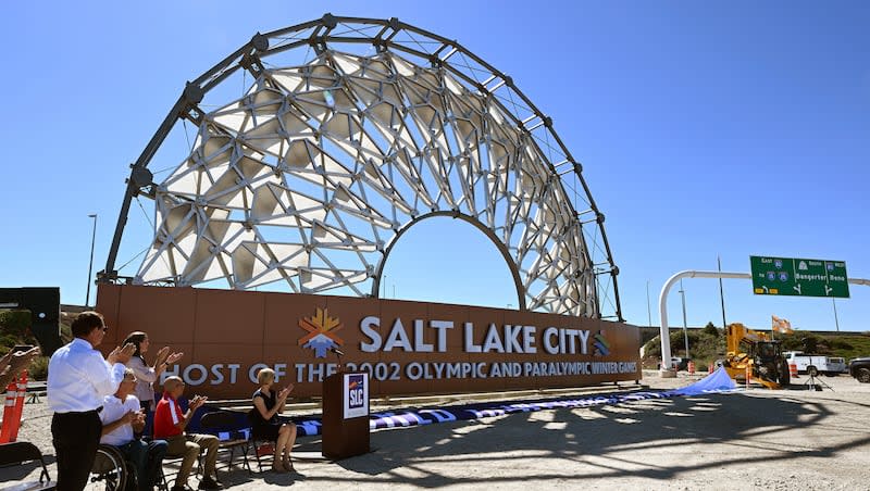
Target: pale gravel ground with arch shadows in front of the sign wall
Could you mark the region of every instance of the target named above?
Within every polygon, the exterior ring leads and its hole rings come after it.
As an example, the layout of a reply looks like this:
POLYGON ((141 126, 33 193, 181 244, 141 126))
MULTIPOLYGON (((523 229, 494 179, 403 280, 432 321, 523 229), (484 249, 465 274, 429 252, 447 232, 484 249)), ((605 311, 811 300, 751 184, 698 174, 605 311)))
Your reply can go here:
MULTIPOLYGON (((303 438, 296 474, 236 468, 221 479, 234 490, 870 489, 870 385, 821 380, 833 390, 751 388, 376 431, 371 453, 340 462, 321 458, 320 440, 303 438)), ((691 381, 644 378, 650 389, 691 381)), ((27 404, 24 418, 18 440, 42 451, 54 477, 45 403, 27 404)), ((0 489, 38 475, 33 463, 0 468, 0 489)))

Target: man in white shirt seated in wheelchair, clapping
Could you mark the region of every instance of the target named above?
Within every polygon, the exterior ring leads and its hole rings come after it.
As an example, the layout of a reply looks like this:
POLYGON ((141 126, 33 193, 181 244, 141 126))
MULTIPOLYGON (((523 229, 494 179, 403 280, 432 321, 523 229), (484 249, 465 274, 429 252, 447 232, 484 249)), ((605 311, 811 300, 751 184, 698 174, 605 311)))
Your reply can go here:
POLYGON ((100 443, 116 448, 136 469, 140 491, 152 490, 157 486, 163 456, 166 454, 164 440, 145 442, 137 440, 134 432, 145 428, 145 414, 139 400, 133 395, 136 376, 130 368, 124 370, 124 379, 117 391, 103 400, 100 420, 102 436, 100 443))

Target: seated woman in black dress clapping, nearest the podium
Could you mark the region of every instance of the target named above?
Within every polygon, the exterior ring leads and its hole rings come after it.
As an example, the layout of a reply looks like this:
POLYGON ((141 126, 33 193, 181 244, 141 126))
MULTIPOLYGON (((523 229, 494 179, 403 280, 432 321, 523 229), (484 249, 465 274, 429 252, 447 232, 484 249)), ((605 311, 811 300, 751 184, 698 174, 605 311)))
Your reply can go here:
POLYGON ((263 368, 257 374, 260 388, 253 393, 252 429, 253 436, 261 440, 275 442, 275 455, 272 459, 272 470, 276 473, 293 471, 290 450, 296 441, 296 425, 281 423, 278 414, 284 411, 287 395, 293 390, 293 383, 275 392, 272 383, 275 381, 275 372, 263 368))

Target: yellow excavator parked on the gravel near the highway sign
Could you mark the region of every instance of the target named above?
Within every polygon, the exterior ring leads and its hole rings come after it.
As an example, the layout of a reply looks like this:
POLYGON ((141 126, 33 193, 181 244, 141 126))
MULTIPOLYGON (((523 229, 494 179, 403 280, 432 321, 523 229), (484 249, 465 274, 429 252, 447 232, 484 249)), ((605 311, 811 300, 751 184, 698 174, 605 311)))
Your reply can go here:
POLYGON ((745 382, 748 373, 750 381, 768 389, 788 387, 788 363, 782 354, 780 341, 767 332, 747 329, 739 323, 729 324, 726 340, 728 355, 722 366, 731 378, 745 382))

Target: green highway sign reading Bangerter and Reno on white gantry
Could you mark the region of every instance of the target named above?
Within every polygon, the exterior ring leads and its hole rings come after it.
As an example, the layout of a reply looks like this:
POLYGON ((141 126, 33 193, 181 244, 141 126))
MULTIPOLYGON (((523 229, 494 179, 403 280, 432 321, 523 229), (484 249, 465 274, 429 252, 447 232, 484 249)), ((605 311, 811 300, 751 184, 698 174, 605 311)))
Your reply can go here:
POLYGON ((843 261, 750 255, 749 263, 756 294, 849 298, 843 261))

